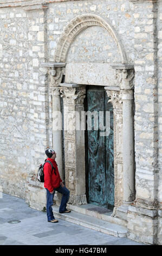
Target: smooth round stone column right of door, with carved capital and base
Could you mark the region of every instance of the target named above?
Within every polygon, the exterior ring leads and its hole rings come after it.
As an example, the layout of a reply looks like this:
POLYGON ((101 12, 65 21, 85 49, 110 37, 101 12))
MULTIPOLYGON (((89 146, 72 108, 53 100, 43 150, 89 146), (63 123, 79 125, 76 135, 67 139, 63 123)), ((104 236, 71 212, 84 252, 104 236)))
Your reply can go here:
POLYGON ((115 216, 127 220, 128 205, 135 199, 134 130, 133 130, 133 78, 132 65, 112 65, 122 74, 120 94, 122 100, 122 160, 123 160, 123 204, 116 209, 115 216))

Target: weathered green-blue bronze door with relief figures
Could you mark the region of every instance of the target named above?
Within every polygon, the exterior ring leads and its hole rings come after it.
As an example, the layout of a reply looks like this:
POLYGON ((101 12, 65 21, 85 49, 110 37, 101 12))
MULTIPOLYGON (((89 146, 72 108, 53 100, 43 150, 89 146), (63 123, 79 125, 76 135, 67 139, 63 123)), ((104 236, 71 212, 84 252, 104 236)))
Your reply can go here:
MULTIPOLYGON (((100 136, 100 126, 86 131, 86 179, 88 202, 112 209, 114 206, 114 153, 113 153, 113 108, 108 102, 103 87, 87 88, 86 111, 103 112, 103 124, 106 125, 106 111, 110 114, 110 132, 100 136), (96 128, 95 128, 96 129, 96 128)), ((98 122, 99 122, 98 118, 98 122)), ((99 123, 98 123, 99 124, 99 123)), ((109 124, 108 124, 109 125, 109 124)))

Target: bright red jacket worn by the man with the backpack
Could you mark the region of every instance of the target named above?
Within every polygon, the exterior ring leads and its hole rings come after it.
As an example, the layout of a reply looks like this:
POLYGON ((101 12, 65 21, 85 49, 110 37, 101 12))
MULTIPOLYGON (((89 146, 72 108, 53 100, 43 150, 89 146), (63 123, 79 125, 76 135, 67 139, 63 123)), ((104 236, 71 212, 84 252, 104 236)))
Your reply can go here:
POLYGON ((47 160, 53 164, 53 167, 55 169, 52 170, 50 163, 44 164, 44 187, 47 188, 49 192, 53 192, 54 188, 60 187, 60 182, 62 182, 62 180, 60 178, 60 173, 57 168, 56 161, 50 158, 48 158, 47 160), (56 172, 56 174, 54 173, 54 171, 56 172))

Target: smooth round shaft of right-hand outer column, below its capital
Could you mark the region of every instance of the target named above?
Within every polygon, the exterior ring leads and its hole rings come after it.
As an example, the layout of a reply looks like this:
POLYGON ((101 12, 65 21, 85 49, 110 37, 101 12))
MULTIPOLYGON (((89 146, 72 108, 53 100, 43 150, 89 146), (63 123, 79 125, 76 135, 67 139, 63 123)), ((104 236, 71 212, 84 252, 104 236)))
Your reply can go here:
MULTIPOLYGON (((124 70, 124 73, 127 71, 124 70)), ((125 75, 125 74, 124 74, 125 75)), ((123 180, 124 204, 135 199, 134 174, 134 131, 133 131, 133 88, 123 81, 122 88, 122 142, 123 142, 123 180)))

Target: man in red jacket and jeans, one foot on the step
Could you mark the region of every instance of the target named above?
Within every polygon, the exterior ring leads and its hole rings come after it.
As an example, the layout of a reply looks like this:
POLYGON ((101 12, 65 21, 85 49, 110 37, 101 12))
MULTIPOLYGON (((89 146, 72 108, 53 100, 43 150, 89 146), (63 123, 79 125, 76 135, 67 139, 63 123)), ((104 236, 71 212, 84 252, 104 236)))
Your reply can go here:
POLYGON ((45 151, 46 155, 48 156, 48 161, 53 164, 53 169, 50 163, 45 163, 43 167, 44 171, 44 187, 47 190, 47 220, 48 222, 58 222, 55 220, 53 215, 53 199, 55 191, 58 191, 62 194, 61 204, 59 208, 60 214, 68 213, 70 210, 66 209, 67 202, 69 200, 69 190, 63 185, 62 180, 60 178, 59 170, 57 168, 56 159, 56 152, 53 149, 47 149, 45 151))

